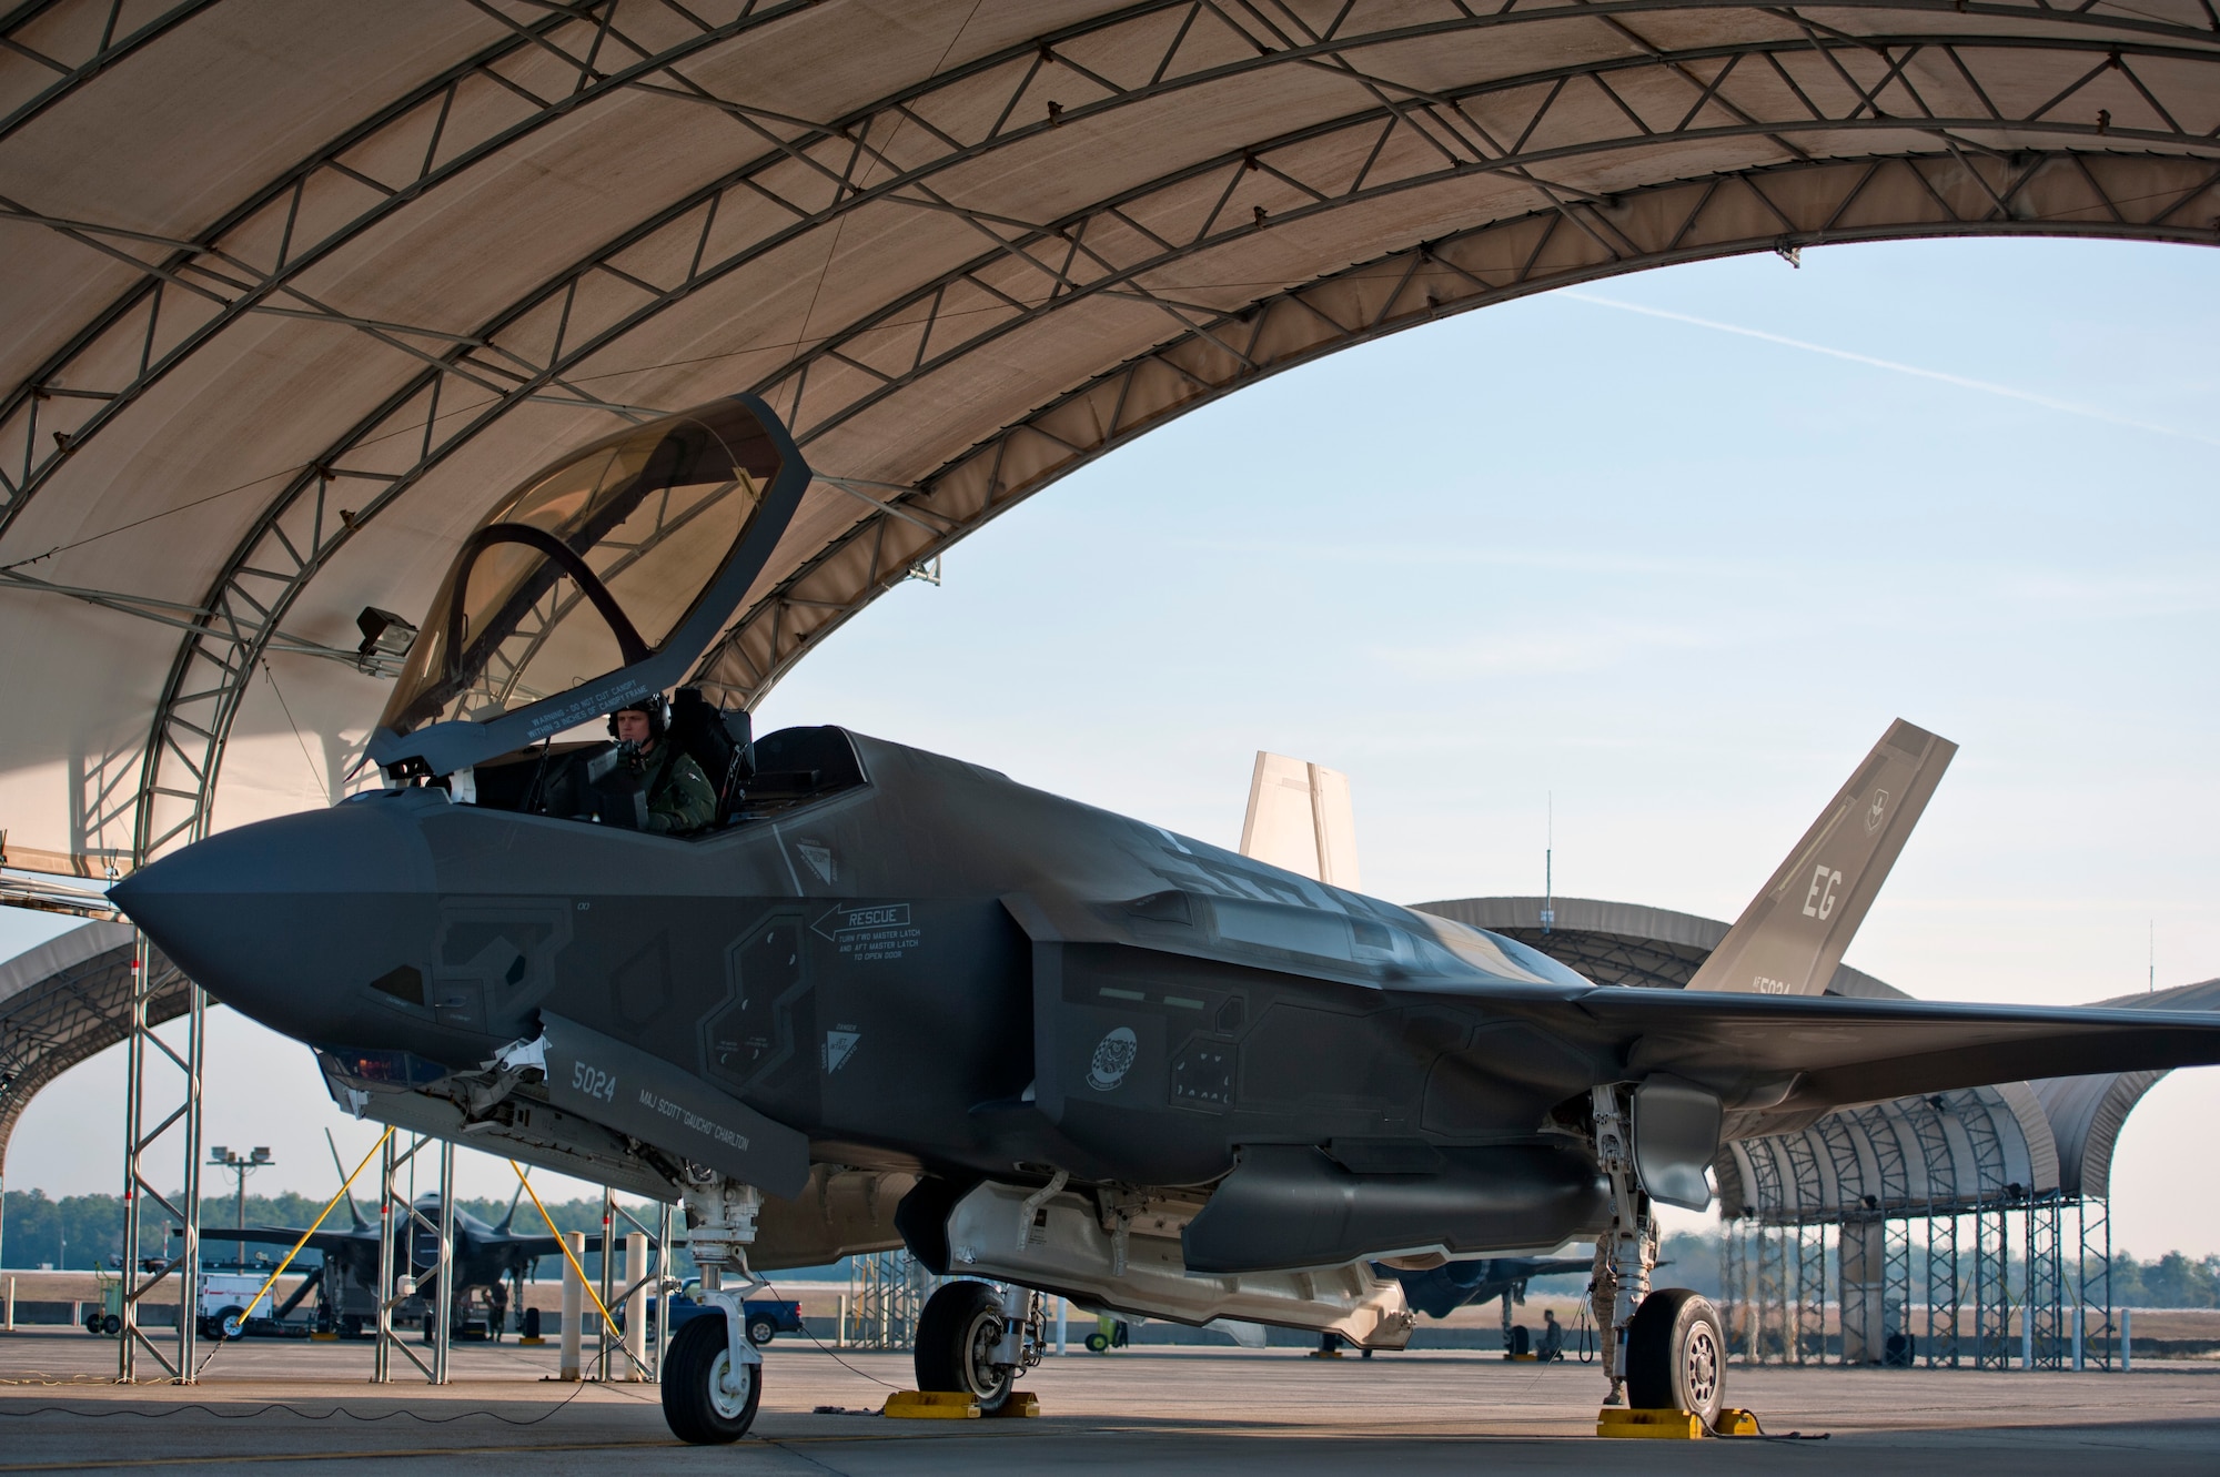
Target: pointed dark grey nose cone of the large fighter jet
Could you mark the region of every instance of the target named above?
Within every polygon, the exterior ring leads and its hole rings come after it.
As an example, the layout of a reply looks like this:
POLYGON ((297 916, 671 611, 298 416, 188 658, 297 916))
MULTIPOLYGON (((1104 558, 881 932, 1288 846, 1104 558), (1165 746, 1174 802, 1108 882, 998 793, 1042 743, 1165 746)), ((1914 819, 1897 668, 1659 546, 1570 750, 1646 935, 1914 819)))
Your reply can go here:
POLYGON ((391 1020, 364 985, 426 969, 437 923, 415 809, 377 798, 242 825, 109 896, 224 1005, 313 1045, 377 1045, 391 1020))

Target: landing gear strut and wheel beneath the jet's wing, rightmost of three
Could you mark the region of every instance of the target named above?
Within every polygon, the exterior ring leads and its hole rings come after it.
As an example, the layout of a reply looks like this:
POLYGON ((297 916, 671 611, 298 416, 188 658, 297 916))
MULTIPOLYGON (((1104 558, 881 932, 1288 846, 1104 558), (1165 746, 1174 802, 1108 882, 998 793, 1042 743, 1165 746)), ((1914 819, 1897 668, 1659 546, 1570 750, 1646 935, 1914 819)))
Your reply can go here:
POLYGON ((1605 1406, 1687 1410, 1716 1428, 1725 1406, 1727 1337, 1718 1308, 1681 1286, 1649 1291, 1658 1224, 1634 1169, 1632 1100, 1623 1087, 1594 1089, 1596 1164, 1612 1186, 1612 1229, 1596 1242, 1590 1306, 1605 1331, 1605 1406))

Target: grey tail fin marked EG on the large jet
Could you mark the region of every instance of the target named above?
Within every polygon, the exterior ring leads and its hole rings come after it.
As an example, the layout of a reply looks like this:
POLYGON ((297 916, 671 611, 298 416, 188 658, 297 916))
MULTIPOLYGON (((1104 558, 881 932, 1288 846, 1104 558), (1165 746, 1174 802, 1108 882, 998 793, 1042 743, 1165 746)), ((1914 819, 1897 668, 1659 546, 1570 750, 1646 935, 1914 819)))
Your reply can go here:
POLYGON ((1687 987, 1823 994, 1956 752, 1925 727, 1891 723, 1687 987))

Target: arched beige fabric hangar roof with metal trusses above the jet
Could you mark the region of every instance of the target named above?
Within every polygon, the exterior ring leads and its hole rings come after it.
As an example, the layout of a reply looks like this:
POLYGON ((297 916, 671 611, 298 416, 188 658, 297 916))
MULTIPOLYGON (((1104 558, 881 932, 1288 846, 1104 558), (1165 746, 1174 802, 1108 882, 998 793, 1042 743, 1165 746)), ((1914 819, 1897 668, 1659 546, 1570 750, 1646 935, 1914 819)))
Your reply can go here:
POLYGON ((95 874, 324 801, 382 701, 355 614, 624 417, 755 390, 830 475, 706 661, 753 701, 1028 492, 1368 337, 2220 215, 2207 0, 22 0, 0 40, 0 829, 95 874))

